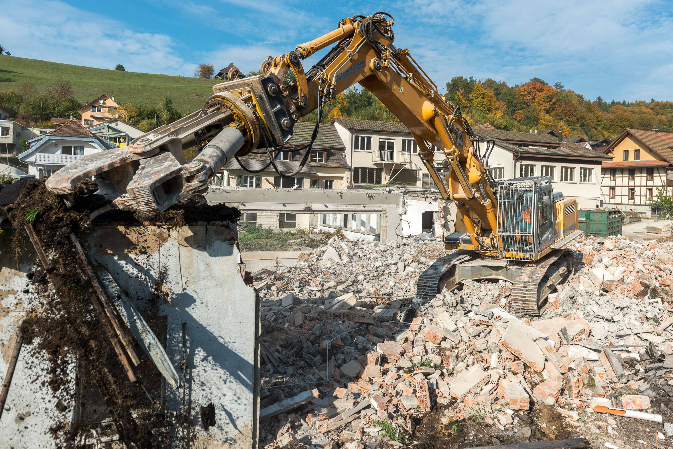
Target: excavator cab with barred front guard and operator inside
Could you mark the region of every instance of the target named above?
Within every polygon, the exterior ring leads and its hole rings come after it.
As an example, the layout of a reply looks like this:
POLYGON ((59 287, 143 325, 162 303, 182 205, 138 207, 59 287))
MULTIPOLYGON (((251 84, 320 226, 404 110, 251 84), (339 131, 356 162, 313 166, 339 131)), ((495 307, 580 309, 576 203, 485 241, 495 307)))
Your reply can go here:
POLYGON ((554 242, 554 191, 549 176, 526 176, 499 183, 500 256, 536 261, 554 242))

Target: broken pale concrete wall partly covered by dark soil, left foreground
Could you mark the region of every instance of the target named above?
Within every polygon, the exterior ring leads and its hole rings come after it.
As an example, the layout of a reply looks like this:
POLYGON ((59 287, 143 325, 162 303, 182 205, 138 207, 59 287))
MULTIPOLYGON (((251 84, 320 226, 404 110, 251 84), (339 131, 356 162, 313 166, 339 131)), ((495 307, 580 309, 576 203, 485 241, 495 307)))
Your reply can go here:
MULTIPOLYGON (((255 447, 258 304, 254 289, 243 279, 245 266, 236 228, 229 223, 174 228, 98 226, 87 240, 92 259, 106 267, 141 312, 149 307, 153 314, 165 317, 165 332, 158 332, 157 337, 165 337, 166 353, 181 382, 185 324, 186 390, 162 382, 168 420, 164 428, 170 429, 172 445, 182 447, 190 440, 192 448, 255 447), (162 299, 157 299, 157 292, 162 299), (210 404, 215 418, 205 429, 203 409, 210 404)), ((26 274, 34 267, 11 264, 11 258, 3 261, 0 272, 3 378, 16 326, 37 301, 22 293, 33 291, 26 274)), ((50 386, 41 386, 47 368, 39 352, 24 346, 1 417, 0 447, 62 446, 52 440, 49 430, 72 423, 75 413, 73 404, 57 407, 50 386)), ((71 371, 72 384, 67 388, 75 391, 74 363, 71 371)), ((84 413, 82 421, 86 423, 87 418, 91 419, 84 413)), ((85 435, 87 442, 96 441, 92 438, 90 433, 85 435)))

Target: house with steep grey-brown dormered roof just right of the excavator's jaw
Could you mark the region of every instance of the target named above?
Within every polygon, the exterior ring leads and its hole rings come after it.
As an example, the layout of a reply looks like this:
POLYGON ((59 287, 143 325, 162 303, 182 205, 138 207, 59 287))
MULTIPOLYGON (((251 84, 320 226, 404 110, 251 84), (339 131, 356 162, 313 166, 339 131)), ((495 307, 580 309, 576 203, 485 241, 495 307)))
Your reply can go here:
MULTIPOLYGON (((293 135, 284 149, 297 150, 283 152, 275 156, 275 164, 283 174, 293 176, 281 177, 269 164, 267 150, 256 149, 253 153, 229 160, 218 174, 217 183, 221 186, 239 186, 245 188, 347 188, 345 174, 350 166, 345 157, 345 146, 334 125, 320 125, 318 135, 307 155, 306 145, 310 143, 315 128, 314 123, 297 122, 293 135), (306 164, 302 168, 302 161, 306 164), (256 171, 250 173, 248 170, 256 171)), ((243 221, 264 226, 265 228, 293 229, 308 228, 308 214, 296 213, 245 213, 243 221)))

